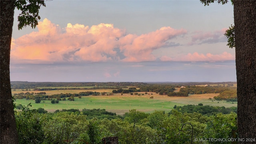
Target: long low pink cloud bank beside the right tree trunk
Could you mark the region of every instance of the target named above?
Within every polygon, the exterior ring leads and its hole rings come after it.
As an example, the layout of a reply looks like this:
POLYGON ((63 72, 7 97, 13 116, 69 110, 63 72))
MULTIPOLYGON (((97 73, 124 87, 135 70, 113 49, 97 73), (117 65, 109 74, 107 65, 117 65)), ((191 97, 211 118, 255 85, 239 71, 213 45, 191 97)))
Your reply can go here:
POLYGON ((222 54, 198 54, 198 52, 194 52, 193 54, 188 53, 182 57, 170 58, 168 56, 162 56, 160 58, 162 61, 225 61, 225 60, 235 60, 235 56, 228 52, 223 52, 222 54))

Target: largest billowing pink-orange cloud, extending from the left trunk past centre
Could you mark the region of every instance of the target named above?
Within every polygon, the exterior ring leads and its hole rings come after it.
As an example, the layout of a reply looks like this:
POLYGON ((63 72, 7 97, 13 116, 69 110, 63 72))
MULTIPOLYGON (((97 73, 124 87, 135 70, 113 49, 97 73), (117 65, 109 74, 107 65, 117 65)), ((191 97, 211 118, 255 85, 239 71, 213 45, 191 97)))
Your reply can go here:
POLYGON ((126 30, 114 28, 113 24, 103 23, 91 27, 68 23, 65 29, 61 29, 48 19, 38 22, 37 28, 37 32, 12 39, 12 62, 152 61, 156 60, 152 51, 186 34, 184 29, 162 27, 137 36, 126 34, 126 30))

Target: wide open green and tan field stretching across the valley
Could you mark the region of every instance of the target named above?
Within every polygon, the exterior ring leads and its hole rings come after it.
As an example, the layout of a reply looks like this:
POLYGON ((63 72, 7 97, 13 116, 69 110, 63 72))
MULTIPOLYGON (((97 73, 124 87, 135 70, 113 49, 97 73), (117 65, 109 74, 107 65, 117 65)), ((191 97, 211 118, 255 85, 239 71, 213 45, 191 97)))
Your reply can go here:
MULTIPOLYGON (((75 90, 74 90, 75 91, 75 90)), ((85 90, 82 90, 85 91, 85 90)), ((94 91, 94 90, 92 90, 94 91)), ((98 92, 98 90, 95 90, 98 92)), ((102 90, 105 91, 106 90, 102 90)), ((42 92, 42 91, 36 91, 42 92)), ((46 91, 47 92, 47 91, 46 91)), ((25 92, 24 92, 25 93, 25 92)), ((58 92, 60 93, 60 92, 58 92)), ((69 93, 69 92, 68 92, 69 93)), ((74 92, 70 92, 74 93, 74 92)), ((144 93, 144 92, 139 92, 144 93)), ((51 104, 50 100, 41 101, 40 104, 36 104, 34 100, 19 100, 15 101, 16 104, 27 105, 31 102, 32 108, 44 108, 48 112, 54 112, 55 110, 62 110, 62 109, 79 109, 82 110, 86 109, 93 109, 93 108, 100 108, 106 109, 109 112, 116 112, 116 114, 124 114, 125 112, 129 112, 131 109, 136 109, 142 112, 154 112, 154 110, 164 110, 166 112, 170 112, 170 110, 177 106, 183 106, 187 104, 199 104, 202 103, 204 105, 210 106, 237 106, 237 102, 226 102, 226 101, 217 101, 214 100, 213 97, 217 96, 218 94, 194 94, 188 97, 169 97, 169 96, 160 96, 156 93, 149 92, 150 95, 130 95, 124 94, 116 94, 114 96, 82 96, 81 99, 75 97, 75 101, 60 101, 59 104, 51 104), (153 99, 150 96, 154 96, 153 99), (212 100, 209 100, 212 98, 212 100)))

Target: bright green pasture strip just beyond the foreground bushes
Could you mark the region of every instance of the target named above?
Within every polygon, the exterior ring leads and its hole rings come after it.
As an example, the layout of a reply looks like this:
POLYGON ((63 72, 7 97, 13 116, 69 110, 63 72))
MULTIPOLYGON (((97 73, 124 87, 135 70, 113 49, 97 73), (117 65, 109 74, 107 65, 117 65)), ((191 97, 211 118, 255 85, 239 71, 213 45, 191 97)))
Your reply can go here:
POLYGON ((50 100, 42 100, 41 103, 36 104, 34 100, 17 99, 14 103, 27 105, 31 102, 32 109, 44 108, 48 112, 54 112, 55 110, 62 109, 93 109, 100 108, 106 109, 110 112, 116 112, 117 114, 124 114, 131 109, 136 109, 144 112, 154 112, 154 110, 170 111, 174 105, 183 106, 176 102, 154 100, 150 98, 130 98, 130 97, 111 97, 111 96, 82 96, 82 98, 75 98, 75 101, 59 101, 58 104, 52 104, 50 100))

